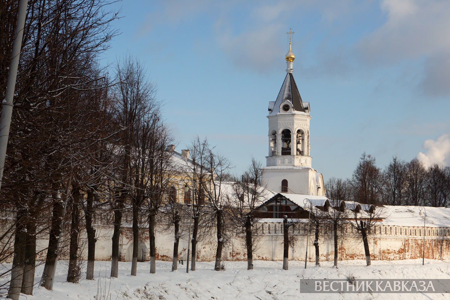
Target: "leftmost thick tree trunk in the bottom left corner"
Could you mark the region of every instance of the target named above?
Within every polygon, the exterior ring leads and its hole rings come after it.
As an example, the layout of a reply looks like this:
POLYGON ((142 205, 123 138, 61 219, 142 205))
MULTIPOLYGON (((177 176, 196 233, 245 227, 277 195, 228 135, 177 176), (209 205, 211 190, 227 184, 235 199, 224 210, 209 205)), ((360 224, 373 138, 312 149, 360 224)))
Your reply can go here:
POLYGON ((14 259, 11 268, 11 282, 9 283, 8 298, 18 300, 22 290, 23 267, 25 260, 26 233, 23 224, 23 213, 17 217, 17 225, 14 237, 14 259))

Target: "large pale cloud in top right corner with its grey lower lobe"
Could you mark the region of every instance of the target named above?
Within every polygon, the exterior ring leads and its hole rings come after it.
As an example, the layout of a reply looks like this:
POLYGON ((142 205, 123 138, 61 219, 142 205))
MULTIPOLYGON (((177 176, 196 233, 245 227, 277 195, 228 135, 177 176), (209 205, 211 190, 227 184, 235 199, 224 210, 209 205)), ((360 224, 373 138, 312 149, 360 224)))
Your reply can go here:
POLYGON ((386 22, 356 43, 360 61, 395 65, 423 61, 419 89, 427 95, 450 94, 450 1, 383 0, 386 22))

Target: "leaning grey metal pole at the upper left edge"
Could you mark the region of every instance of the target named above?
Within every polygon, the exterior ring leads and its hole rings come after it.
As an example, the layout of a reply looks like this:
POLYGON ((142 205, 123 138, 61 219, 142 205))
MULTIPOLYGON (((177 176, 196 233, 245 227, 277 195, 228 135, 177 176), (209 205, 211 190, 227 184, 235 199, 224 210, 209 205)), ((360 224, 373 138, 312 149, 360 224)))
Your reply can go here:
POLYGON ((27 15, 28 0, 20 0, 17 15, 16 32, 14 34, 13 52, 11 53, 11 63, 9 65, 8 85, 6 85, 6 96, 2 102, 0 121, 0 189, 3 179, 4 159, 6 157, 6 147, 8 147, 9 126, 11 125, 11 115, 13 113, 14 89, 16 87, 17 69, 19 65, 20 49, 22 48, 23 27, 27 15))

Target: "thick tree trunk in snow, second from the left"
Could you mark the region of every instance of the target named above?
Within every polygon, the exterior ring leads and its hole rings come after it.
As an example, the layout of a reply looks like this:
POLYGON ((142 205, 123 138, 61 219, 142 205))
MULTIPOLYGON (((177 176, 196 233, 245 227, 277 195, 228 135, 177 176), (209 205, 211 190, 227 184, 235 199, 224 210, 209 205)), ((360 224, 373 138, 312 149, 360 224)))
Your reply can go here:
POLYGON ((26 239, 22 293, 25 295, 33 295, 34 273, 36 267, 36 222, 33 222, 32 220, 27 222, 26 239))

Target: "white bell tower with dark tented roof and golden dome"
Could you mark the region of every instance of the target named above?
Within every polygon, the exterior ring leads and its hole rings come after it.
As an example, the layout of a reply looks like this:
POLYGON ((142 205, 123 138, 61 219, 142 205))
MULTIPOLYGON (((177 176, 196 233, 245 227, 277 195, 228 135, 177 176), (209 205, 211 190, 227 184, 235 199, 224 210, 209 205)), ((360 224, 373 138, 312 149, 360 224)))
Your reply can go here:
POLYGON ((294 81, 295 59, 289 42, 288 68, 276 101, 269 102, 269 153, 263 180, 278 193, 324 195, 324 179, 311 167, 310 105, 294 81))

